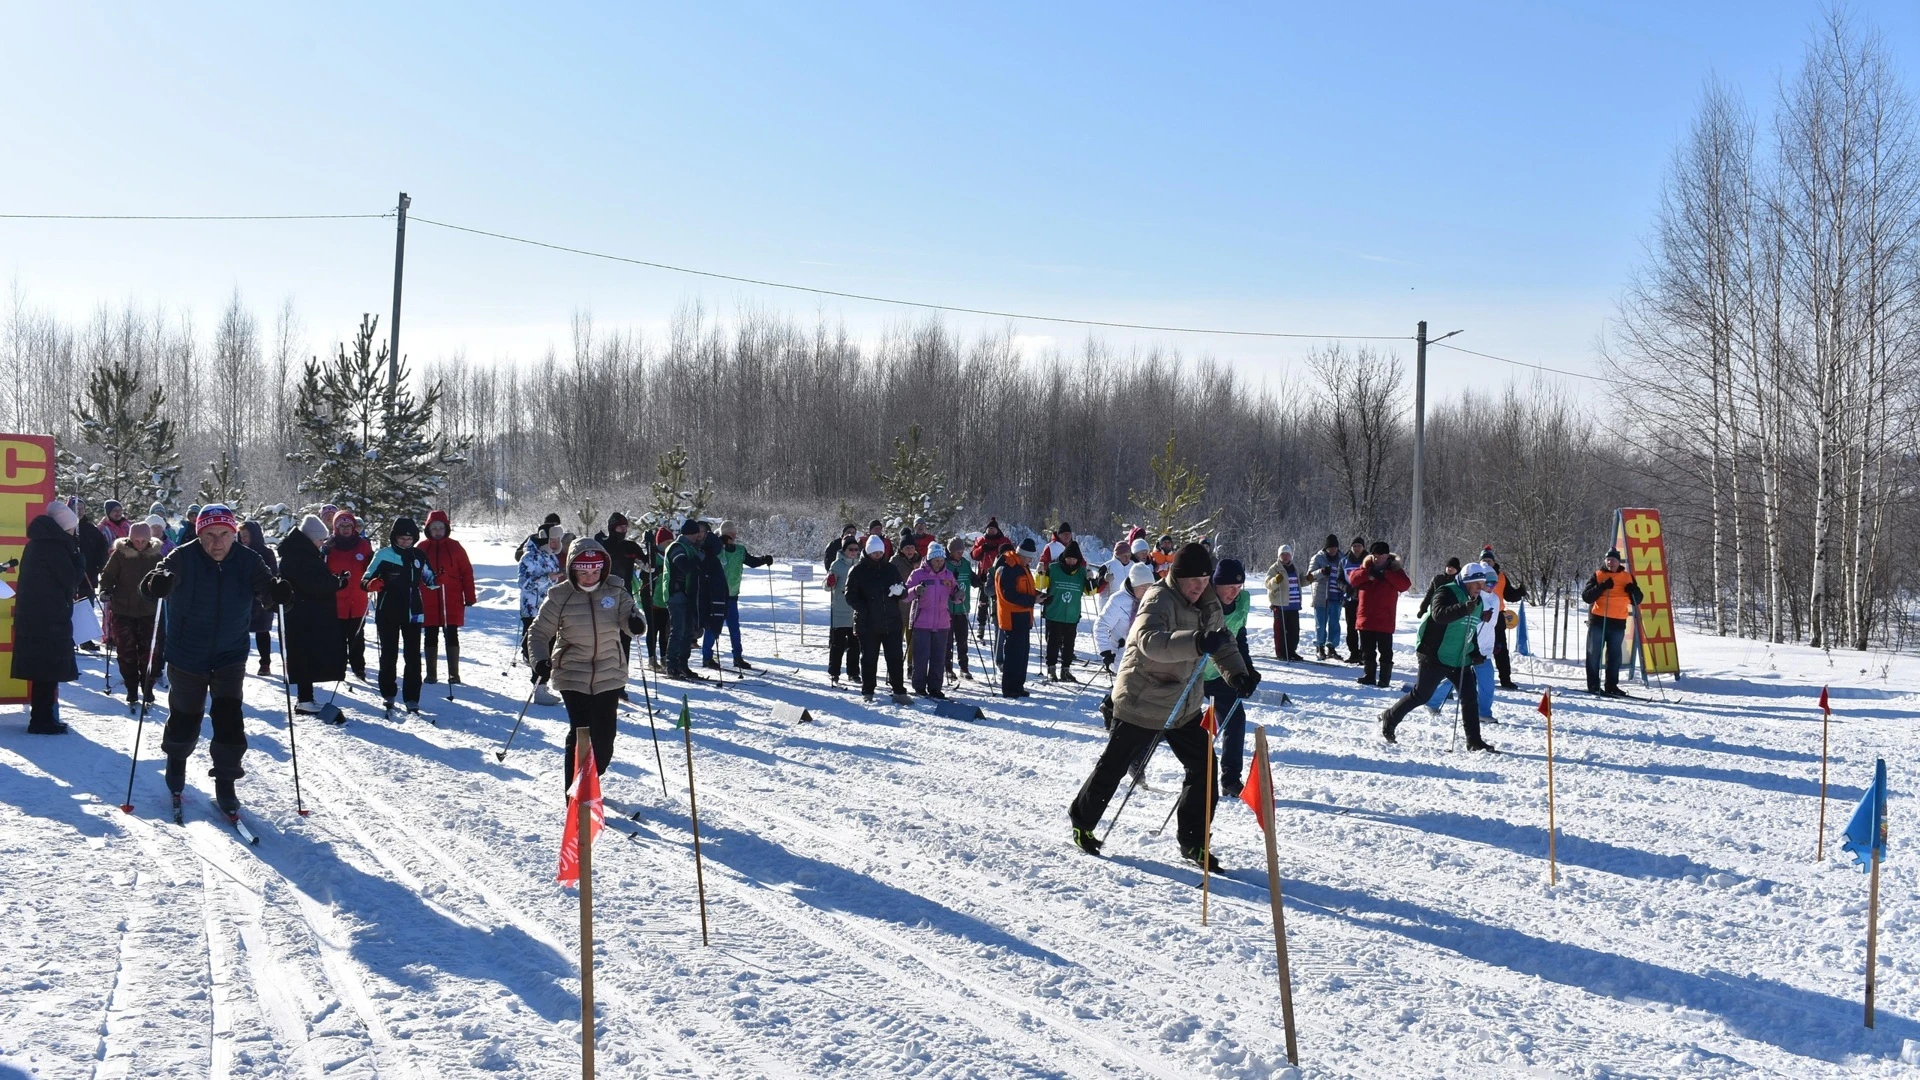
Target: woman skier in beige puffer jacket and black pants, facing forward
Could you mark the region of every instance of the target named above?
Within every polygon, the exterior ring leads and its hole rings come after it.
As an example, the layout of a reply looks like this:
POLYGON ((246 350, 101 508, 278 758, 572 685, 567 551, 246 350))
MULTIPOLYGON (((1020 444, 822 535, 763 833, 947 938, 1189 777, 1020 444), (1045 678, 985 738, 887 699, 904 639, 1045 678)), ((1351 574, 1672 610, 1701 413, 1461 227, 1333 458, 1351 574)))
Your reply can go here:
POLYGON ((607 550, 574 540, 566 550, 566 580, 547 590, 528 630, 534 682, 553 680, 566 705, 566 788, 574 786, 574 734, 593 738, 593 767, 607 773, 620 698, 626 692, 626 648, 620 636, 643 636, 647 619, 634 596, 607 584, 607 550))

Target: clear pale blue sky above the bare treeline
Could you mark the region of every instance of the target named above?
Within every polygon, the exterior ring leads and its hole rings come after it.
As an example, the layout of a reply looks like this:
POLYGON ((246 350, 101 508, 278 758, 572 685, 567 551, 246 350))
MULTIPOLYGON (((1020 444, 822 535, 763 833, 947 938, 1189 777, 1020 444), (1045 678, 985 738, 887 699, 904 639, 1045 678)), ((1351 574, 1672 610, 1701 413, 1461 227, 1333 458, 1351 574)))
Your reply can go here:
MULTIPOLYGON (((1588 369, 1711 75, 1764 115, 1811 2, 19 4, 0 213, 422 217, 724 273, 1131 323, 1411 334, 1588 369)), ((1920 71, 1920 4, 1862 0, 1920 71)), ((0 275, 202 325, 384 313, 392 223, 0 221, 0 275)), ((588 307, 914 313, 409 231, 403 350, 566 348, 588 307)), ((964 332, 1000 319, 948 317, 964 332)), ((1033 348, 1085 331, 1012 327, 1033 348)), ((1284 382, 1311 342, 1102 332, 1284 382)), ((1434 354, 1436 390, 1513 375, 1434 354)))

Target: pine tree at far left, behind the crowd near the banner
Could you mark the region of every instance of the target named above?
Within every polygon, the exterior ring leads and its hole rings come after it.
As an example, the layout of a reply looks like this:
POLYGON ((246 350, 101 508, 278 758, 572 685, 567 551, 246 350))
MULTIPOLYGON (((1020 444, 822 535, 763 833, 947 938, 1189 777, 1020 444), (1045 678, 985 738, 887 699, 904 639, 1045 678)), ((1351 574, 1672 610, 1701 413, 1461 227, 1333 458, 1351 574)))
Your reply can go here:
POLYGON ((140 517, 156 502, 173 513, 180 455, 173 421, 161 415, 165 405, 167 392, 148 390, 140 367, 96 367, 73 405, 84 452, 60 450, 56 455, 60 490, 88 502, 119 500, 140 517))

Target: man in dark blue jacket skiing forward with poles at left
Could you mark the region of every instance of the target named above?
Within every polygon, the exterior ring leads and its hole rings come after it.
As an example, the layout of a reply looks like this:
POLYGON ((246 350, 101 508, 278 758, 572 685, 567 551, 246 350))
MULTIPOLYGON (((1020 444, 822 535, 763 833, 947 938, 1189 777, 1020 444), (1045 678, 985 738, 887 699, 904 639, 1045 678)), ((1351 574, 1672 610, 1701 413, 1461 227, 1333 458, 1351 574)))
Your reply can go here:
POLYGON ((246 776, 246 728, 240 723, 240 684, 246 680, 253 600, 278 607, 294 588, 275 578, 253 550, 236 542, 240 519, 221 503, 205 505, 192 521, 196 538, 175 548, 140 582, 140 592, 161 600, 167 621, 167 790, 179 805, 186 788, 186 759, 200 746, 200 717, 213 719, 215 801, 227 813, 240 809, 234 780, 246 776), (207 707, 211 694, 213 705, 207 707))

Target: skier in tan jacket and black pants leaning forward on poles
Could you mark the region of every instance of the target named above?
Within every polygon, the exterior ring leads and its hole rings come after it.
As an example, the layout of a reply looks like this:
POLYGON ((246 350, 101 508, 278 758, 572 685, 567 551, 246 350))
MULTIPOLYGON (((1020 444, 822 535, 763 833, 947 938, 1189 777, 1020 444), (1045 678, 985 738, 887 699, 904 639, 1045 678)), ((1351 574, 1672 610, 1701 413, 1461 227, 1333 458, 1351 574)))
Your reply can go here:
MULTIPOLYGON (((1114 680, 1114 728, 1068 811, 1073 842, 1091 855, 1100 853, 1094 826, 1114 799, 1119 778, 1127 774, 1127 765, 1164 738, 1187 767, 1179 801, 1181 853, 1200 863, 1206 811, 1213 801, 1213 792, 1208 790, 1213 751, 1212 738, 1194 723, 1206 701, 1192 686, 1192 676, 1212 657, 1236 694, 1248 696, 1260 686, 1260 673, 1246 665, 1227 632, 1212 577, 1213 555, 1202 544, 1187 544, 1167 563, 1167 577, 1148 586, 1140 598, 1119 676, 1114 680)), ((1219 871, 1217 859, 1212 869, 1219 871)))

